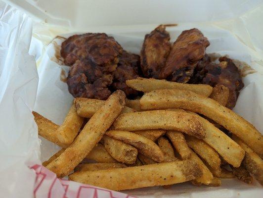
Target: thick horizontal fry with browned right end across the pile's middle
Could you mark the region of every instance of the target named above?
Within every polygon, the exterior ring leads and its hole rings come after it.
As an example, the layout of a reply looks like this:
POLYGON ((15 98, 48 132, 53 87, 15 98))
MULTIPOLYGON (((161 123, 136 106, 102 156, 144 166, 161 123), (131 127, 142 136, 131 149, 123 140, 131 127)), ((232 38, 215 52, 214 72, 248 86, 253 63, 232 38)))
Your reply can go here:
POLYGON ((113 123, 117 130, 145 129, 176 130, 197 138, 204 138, 204 126, 198 116, 185 112, 154 110, 123 113, 113 123))

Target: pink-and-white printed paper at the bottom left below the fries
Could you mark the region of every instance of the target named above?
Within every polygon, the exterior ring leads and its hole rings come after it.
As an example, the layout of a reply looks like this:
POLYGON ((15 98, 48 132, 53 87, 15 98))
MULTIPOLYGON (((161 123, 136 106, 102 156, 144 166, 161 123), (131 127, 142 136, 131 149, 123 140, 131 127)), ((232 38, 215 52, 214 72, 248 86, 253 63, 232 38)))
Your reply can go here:
POLYGON ((36 173, 35 198, 135 198, 124 193, 59 179, 42 165, 36 164, 31 169, 36 173))

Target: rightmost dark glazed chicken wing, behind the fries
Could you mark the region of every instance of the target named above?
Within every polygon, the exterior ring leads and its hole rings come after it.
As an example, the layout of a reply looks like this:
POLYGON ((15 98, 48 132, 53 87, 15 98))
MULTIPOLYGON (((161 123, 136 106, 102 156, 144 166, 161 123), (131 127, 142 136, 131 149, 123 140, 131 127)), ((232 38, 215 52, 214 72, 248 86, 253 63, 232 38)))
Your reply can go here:
POLYGON ((235 104, 239 91, 244 87, 238 68, 230 58, 225 56, 219 58, 220 63, 210 63, 205 66, 205 77, 202 83, 213 87, 223 85, 229 89, 229 97, 226 107, 232 109, 235 104))

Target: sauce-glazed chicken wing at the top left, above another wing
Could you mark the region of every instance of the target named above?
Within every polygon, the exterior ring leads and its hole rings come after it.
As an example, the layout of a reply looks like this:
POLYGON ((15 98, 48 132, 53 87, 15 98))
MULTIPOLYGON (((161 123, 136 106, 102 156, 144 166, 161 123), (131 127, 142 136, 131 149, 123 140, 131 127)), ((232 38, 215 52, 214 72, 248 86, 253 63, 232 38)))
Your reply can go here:
POLYGON ((105 33, 86 33, 73 35, 61 45, 61 56, 66 65, 73 65, 77 60, 90 59, 102 64, 117 64, 123 49, 113 37, 105 33))

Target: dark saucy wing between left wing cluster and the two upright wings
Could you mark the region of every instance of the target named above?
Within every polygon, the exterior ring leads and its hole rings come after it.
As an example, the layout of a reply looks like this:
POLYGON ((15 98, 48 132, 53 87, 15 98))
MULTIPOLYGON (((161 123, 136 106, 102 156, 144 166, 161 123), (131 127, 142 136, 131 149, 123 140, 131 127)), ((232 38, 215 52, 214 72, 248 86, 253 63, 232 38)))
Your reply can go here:
POLYGON ((122 90, 127 97, 136 97, 138 91, 128 87, 126 80, 137 78, 140 75, 140 56, 123 51, 117 69, 113 72, 112 90, 122 90))

